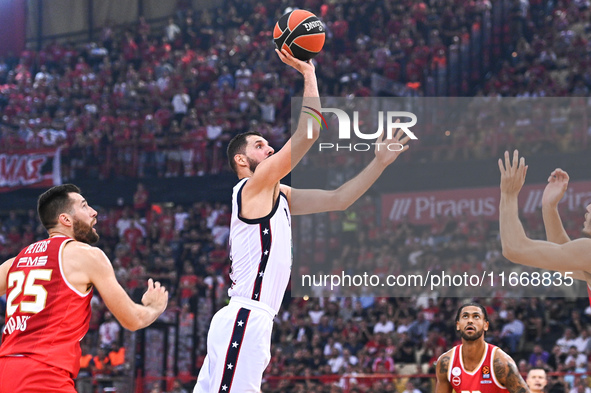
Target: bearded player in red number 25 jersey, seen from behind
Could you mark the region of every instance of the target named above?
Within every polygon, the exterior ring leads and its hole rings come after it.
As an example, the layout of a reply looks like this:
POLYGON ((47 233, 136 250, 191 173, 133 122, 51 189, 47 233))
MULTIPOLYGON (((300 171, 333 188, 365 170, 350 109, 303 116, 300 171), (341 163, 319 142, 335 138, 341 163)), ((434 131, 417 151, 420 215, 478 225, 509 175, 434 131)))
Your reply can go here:
POLYGON ((97 212, 78 187, 49 189, 37 210, 49 238, 0 265, 0 296, 7 294, 0 393, 76 392, 73 378, 93 288, 129 330, 150 325, 168 302, 167 291, 152 279, 142 304, 129 298, 107 256, 90 245, 99 239, 93 228, 97 212))

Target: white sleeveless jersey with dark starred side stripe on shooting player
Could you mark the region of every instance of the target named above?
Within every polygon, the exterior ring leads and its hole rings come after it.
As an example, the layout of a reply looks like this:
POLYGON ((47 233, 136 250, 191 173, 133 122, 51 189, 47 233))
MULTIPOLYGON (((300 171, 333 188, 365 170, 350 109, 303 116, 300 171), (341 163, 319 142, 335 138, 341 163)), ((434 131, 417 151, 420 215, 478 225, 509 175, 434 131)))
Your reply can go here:
POLYGON ((260 301, 279 311, 291 274, 291 214, 280 193, 266 217, 240 217, 241 195, 248 178, 234 186, 230 224, 232 286, 228 295, 260 301))

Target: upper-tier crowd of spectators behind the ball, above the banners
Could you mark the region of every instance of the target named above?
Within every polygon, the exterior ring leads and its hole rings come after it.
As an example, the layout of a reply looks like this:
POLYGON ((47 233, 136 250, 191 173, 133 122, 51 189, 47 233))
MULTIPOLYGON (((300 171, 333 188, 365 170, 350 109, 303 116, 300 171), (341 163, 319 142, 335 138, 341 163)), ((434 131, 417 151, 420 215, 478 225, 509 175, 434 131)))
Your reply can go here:
MULTIPOLYGON (((508 57, 498 73, 466 82, 491 97, 587 95, 587 3, 498 2, 505 19, 496 30, 505 50, 493 55, 508 57)), ((422 94, 432 69, 445 66, 447 48, 494 12, 488 0, 227 0, 223 7, 180 10, 163 28, 144 18, 135 26, 106 25, 93 42, 51 42, 0 58, 2 151, 59 145, 67 149, 67 178, 141 178, 225 170, 225 144, 249 129, 281 146, 289 136, 290 98, 301 87, 296 71, 273 52, 271 31, 288 6, 310 9, 324 21, 326 46, 315 59, 319 86, 322 96, 340 97, 379 94, 370 89, 376 75, 422 94)), ((504 128, 509 138, 517 134, 517 147, 531 144, 519 130, 504 128)), ((422 130, 427 159, 496 157, 485 151, 491 135, 507 136, 472 129, 422 130), (453 154, 430 149, 441 144, 453 154)), ((585 148, 581 138, 565 149, 585 148)))

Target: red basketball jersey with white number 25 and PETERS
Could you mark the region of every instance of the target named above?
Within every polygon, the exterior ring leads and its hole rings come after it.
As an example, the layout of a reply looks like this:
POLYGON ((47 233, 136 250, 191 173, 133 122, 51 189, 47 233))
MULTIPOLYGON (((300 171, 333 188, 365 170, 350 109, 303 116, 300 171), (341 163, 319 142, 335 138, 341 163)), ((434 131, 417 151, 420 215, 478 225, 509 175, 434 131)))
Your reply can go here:
POLYGON ((65 236, 41 240, 12 262, 0 356, 27 356, 76 377, 92 290, 80 293, 66 281, 62 251, 71 240, 65 236))

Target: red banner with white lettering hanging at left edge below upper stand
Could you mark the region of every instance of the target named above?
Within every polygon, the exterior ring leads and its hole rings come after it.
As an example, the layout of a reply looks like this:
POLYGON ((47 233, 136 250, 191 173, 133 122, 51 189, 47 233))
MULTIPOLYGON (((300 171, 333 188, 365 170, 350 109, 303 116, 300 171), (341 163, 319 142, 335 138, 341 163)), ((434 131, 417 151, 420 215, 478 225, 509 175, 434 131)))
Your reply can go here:
POLYGON ((61 184, 60 149, 0 153, 0 192, 61 184))

